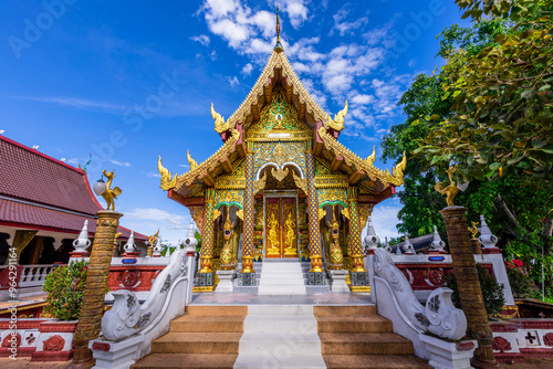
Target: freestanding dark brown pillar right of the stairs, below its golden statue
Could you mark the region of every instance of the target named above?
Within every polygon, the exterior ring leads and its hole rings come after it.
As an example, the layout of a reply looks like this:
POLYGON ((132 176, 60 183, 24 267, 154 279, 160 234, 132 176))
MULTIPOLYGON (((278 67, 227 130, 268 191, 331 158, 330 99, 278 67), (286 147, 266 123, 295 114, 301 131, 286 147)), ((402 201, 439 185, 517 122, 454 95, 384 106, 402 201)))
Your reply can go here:
POLYGON ((478 280, 465 212, 463 207, 456 205, 440 211, 448 233, 451 264, 457 277, 461 307, 467 316, 467 336, 478 340, 471 365, 474 368, 499 368, 493 356, 493 336, 478 280))

